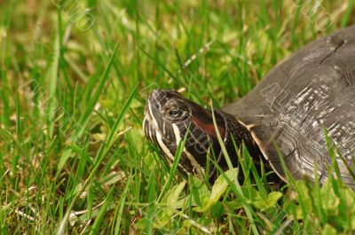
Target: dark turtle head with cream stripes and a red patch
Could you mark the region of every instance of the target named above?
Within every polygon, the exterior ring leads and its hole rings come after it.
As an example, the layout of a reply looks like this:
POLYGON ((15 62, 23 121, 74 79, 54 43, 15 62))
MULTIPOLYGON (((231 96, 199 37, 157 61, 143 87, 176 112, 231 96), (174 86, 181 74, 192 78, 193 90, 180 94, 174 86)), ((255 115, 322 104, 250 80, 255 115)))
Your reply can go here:
MULTIPOLYGON (((207 154, 211 147, 218 161, 220 145, 208 109, 183 98, 174 90, 154 90, 146 102, 143 129, 146 137, 158 145, 168 161, 173 161, 177 146, 186 136, 185 148, 179 161, 179 168, 200 174, 206 168, 207 154)), ((216 111, 215 118, 221 137, 225 137, 225 119, 216 111)), ((212 166, 213 164, 211 164, 212 166)))

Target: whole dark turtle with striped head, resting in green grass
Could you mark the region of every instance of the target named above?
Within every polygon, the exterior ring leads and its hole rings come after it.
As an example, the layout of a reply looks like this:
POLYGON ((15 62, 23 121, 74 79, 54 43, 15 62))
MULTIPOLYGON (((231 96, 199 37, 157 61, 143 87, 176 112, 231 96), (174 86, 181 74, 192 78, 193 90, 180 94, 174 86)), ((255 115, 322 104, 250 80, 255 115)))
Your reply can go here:
POLYGON ((208 166, 215 174, 212 160, 227 168, 219 134, 234 167, 244 143, 286 183, 293 176, 325 184, 333 175, 355 189, 354 101, 355 27, 345 27, 280 61, 245 97, 220 109, 153 90, 143 129, 170 162, 185 139, 178 169, 186 174, 206 174, 208 166), (340 174, 329 168, 334 162, 340 174))

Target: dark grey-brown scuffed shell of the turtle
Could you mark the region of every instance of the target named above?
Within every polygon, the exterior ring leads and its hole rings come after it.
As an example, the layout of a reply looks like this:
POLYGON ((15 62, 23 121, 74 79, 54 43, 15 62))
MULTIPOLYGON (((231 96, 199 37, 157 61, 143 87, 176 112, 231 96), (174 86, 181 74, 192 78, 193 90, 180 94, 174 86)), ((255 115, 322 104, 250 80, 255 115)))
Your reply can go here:
POLYGON ((330 137, 342 180, 355 188, 354 102, 355 27, 347 27, 281 61, 246 97, 223 110, 249 129, 283 179, 280 156, 296 179, 314 180, 316 170, 323 184, 332 165, 330 137))

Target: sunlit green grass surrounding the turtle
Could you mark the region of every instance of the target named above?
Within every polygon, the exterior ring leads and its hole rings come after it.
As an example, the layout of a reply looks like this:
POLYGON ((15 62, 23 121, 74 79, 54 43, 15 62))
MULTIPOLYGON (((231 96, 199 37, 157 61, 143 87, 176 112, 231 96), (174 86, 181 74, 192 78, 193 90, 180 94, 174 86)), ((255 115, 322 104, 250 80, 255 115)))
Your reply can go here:
POLYGON ((155 87, 223 106, 351 25, 354 1, 320 3, 334 18, 327 30, 292 0, 71 1, 91 9, 83 30, 54 4, 68 2, 0 4, 1 234, 355 231, 355 192, 339 180, 275 191, 246 153, 244 182, 226 180, 231 169, 206 184, 168 168, 141 127, 155 87))

